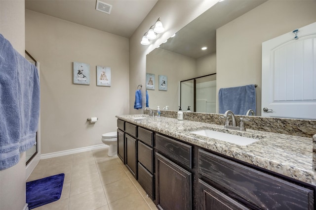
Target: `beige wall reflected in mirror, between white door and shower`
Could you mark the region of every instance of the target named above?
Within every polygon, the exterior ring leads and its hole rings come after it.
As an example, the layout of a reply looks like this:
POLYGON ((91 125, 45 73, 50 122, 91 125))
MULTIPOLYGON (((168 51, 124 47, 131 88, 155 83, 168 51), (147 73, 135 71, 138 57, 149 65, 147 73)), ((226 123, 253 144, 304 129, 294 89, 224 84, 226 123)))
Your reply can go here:
POLYGON ((257 84, 256 109, 261 115, 262 42, 316 22, 315 11, 315 0, 270 0, 219 28, 217 92, 220 88, 257 84))

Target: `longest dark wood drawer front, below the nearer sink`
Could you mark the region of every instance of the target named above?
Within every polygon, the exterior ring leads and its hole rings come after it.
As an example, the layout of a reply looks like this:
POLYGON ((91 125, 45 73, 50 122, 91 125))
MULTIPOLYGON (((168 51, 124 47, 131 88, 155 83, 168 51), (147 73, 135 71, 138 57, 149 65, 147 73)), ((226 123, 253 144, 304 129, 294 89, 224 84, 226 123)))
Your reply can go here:
POLYGON ((198 150, 199 174, 253 208, 314 210, 314 191, 198 150))

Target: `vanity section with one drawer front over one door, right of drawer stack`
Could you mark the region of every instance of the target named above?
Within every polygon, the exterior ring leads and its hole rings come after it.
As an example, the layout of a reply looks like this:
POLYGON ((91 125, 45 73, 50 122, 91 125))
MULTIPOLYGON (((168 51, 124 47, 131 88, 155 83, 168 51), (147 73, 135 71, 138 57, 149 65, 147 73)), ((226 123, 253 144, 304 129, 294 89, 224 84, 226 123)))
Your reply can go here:
POLYGON ((192 146, 156 134, 156 204, 163 210, 193 208, 192 146))

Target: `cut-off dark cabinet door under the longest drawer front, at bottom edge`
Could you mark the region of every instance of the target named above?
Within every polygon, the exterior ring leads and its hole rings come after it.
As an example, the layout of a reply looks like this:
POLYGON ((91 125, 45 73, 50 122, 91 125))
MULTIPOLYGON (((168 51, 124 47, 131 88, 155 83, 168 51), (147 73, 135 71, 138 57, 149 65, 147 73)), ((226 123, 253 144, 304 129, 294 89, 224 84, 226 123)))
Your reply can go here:
POLYGON ((199 210, 249 210, 202 180, 198 180, 199 210))

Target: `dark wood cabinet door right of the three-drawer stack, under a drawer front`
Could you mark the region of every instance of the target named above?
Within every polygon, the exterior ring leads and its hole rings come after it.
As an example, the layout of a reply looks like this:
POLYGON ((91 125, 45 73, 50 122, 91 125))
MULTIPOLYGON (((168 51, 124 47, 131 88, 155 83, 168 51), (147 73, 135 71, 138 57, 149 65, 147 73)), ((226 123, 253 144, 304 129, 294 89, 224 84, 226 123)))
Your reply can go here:
POLYGON ((192 174, 156 153, 156 205, 160 210, 192 210, 192 174))

